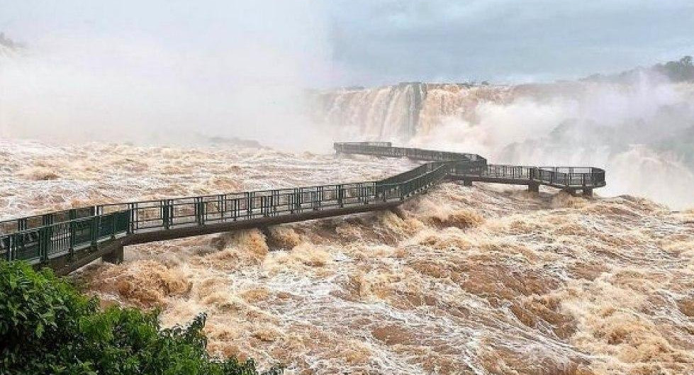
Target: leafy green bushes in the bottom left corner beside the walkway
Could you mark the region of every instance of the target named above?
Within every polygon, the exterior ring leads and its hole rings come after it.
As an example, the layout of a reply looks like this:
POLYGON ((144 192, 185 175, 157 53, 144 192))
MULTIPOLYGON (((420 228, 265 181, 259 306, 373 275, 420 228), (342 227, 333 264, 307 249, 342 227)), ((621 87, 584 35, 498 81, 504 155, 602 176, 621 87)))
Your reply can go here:
POLYGON ((209 356, 205 318, 162 329, 156 311, 101 311, 48 269, 0 262, 0 374, 258 374, 252 360, 209 356))

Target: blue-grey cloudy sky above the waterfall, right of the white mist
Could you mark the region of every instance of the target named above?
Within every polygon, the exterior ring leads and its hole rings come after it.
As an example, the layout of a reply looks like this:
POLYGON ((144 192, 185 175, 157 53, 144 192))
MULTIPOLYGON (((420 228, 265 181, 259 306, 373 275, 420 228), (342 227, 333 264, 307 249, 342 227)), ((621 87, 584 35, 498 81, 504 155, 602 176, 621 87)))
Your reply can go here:
POLYGON ((576 78, 694 50, 684 0, 332 4, 335 59, 367 85, 576 78))

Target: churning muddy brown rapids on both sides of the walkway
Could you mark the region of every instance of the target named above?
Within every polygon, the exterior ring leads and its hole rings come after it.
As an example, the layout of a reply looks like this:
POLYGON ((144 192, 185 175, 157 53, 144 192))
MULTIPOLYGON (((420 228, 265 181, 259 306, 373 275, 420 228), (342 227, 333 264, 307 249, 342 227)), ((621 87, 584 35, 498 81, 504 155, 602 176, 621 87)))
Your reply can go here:
MULTIPOLYGON (((16 140, 0 161, 4 218, 414 165, 16 140)), ((694 210, 632 196, 448 183, 393 212, 129 247, 72 277, 165 325, 206 312, 211 352, 289 374, 694 373, 694 210)))

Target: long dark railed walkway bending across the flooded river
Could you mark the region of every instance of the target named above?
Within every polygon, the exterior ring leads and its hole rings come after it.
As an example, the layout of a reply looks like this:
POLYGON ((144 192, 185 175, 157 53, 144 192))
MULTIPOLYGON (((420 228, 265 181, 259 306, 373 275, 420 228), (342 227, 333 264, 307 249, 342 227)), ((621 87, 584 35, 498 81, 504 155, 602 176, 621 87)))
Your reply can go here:
POLYGON ((390 142, 337 142, 338 154, 408 157, 424 162, 379 181, 104 204, 0 222, 0 257, 57 274, 102 258, 122 262, 128 245, 393 208, 441 181, 540 185, 591 195, 605 186, 593 167, 487 164, 479 155, 393 147, 390 142))

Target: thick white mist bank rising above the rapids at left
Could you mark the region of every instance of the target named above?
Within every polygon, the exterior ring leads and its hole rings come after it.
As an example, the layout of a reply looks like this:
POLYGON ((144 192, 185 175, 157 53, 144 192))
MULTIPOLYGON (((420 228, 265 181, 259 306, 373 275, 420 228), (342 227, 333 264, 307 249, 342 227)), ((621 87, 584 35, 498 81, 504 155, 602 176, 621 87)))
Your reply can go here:
POLYGON ((0 60, 0 136, 283 147, 315 136, 301 100, 328 71, 320 6, 79 5, 67 18, 35 5, 10 23, 25 47, 0 60))

